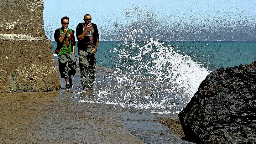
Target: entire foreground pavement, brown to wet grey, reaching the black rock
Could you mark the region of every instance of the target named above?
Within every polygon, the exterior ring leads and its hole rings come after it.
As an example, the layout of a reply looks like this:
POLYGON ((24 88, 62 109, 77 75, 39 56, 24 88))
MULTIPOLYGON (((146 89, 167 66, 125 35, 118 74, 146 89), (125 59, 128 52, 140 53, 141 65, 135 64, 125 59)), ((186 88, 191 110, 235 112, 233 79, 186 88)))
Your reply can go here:
MULTIPOLYGON (((97 73, 107 70, 97 66, 97 73)), ((177 114, 81 102, 75 96, 81 89, 79 71, 73 78, 71 90, 0 93, 0 143, 190 143, 180 138, 184 134, 177 114)))

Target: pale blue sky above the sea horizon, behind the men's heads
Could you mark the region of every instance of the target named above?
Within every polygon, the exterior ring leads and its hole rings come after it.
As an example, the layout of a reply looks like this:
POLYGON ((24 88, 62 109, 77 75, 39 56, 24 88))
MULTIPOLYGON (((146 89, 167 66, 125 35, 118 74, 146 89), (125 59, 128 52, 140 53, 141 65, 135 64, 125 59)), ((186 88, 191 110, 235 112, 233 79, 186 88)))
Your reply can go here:
POLYGON ((63 16, 70 18, 69 28, 76 30, 86 13, 91 14, 92 23, 97 23, 100 40, 116 39, 120 33, 115 24, 127 30, 129 23, 138 23, 136 19, 143 22, 147 17, 153 18, 155 25, 145 29, 145 33, 153 37, 161 31, 171 33, 169 40, 256 39, 256 2, 253 0, 44 0, 46 36, 53 39, 63 16))

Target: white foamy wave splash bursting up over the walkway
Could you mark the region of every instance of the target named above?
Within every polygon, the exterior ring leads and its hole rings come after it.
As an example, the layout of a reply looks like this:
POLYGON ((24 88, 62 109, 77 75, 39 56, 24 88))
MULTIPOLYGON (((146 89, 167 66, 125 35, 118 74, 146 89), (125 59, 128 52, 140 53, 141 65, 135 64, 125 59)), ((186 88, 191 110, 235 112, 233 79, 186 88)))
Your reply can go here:
MULTIPOLYGON (((145 23, 150 25, 149 20, 145 23)), ((150 109, 152 113, 178 113, 188 103, 211 71, 164 41, 148 38, 145 25, 135 21, 129 24, 128 31, 120 28, 123 43, 112 52, 118 59, 115 70, 96 83, 100 85, 108 78, 111 84, 100 87, 93 100, 80 101, 150 109)))

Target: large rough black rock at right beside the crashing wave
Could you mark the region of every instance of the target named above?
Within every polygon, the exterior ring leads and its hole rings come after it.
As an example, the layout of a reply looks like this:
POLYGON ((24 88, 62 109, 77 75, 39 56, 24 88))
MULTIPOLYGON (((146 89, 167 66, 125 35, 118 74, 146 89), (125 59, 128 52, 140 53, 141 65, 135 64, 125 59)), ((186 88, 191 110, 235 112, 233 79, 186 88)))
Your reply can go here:
POLYGON ((256 143, 256 61, 209 74, 179 119, 189 141, 256 143))

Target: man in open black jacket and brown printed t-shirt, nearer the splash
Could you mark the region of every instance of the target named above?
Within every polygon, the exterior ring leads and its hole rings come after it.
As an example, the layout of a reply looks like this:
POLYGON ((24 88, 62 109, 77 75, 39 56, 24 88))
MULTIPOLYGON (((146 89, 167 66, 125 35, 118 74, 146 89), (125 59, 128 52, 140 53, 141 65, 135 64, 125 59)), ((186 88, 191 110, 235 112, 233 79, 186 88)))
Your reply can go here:
POLYGON ((78 23, 76 38, 78 40, 78 55, 80 67, 80 80, 83 89, 93 89, 95 81, 95 65, 97 46, 99 43, 99 31, 97 25, 91 23, 91 15, 84 16, 85 23, 78 23))

